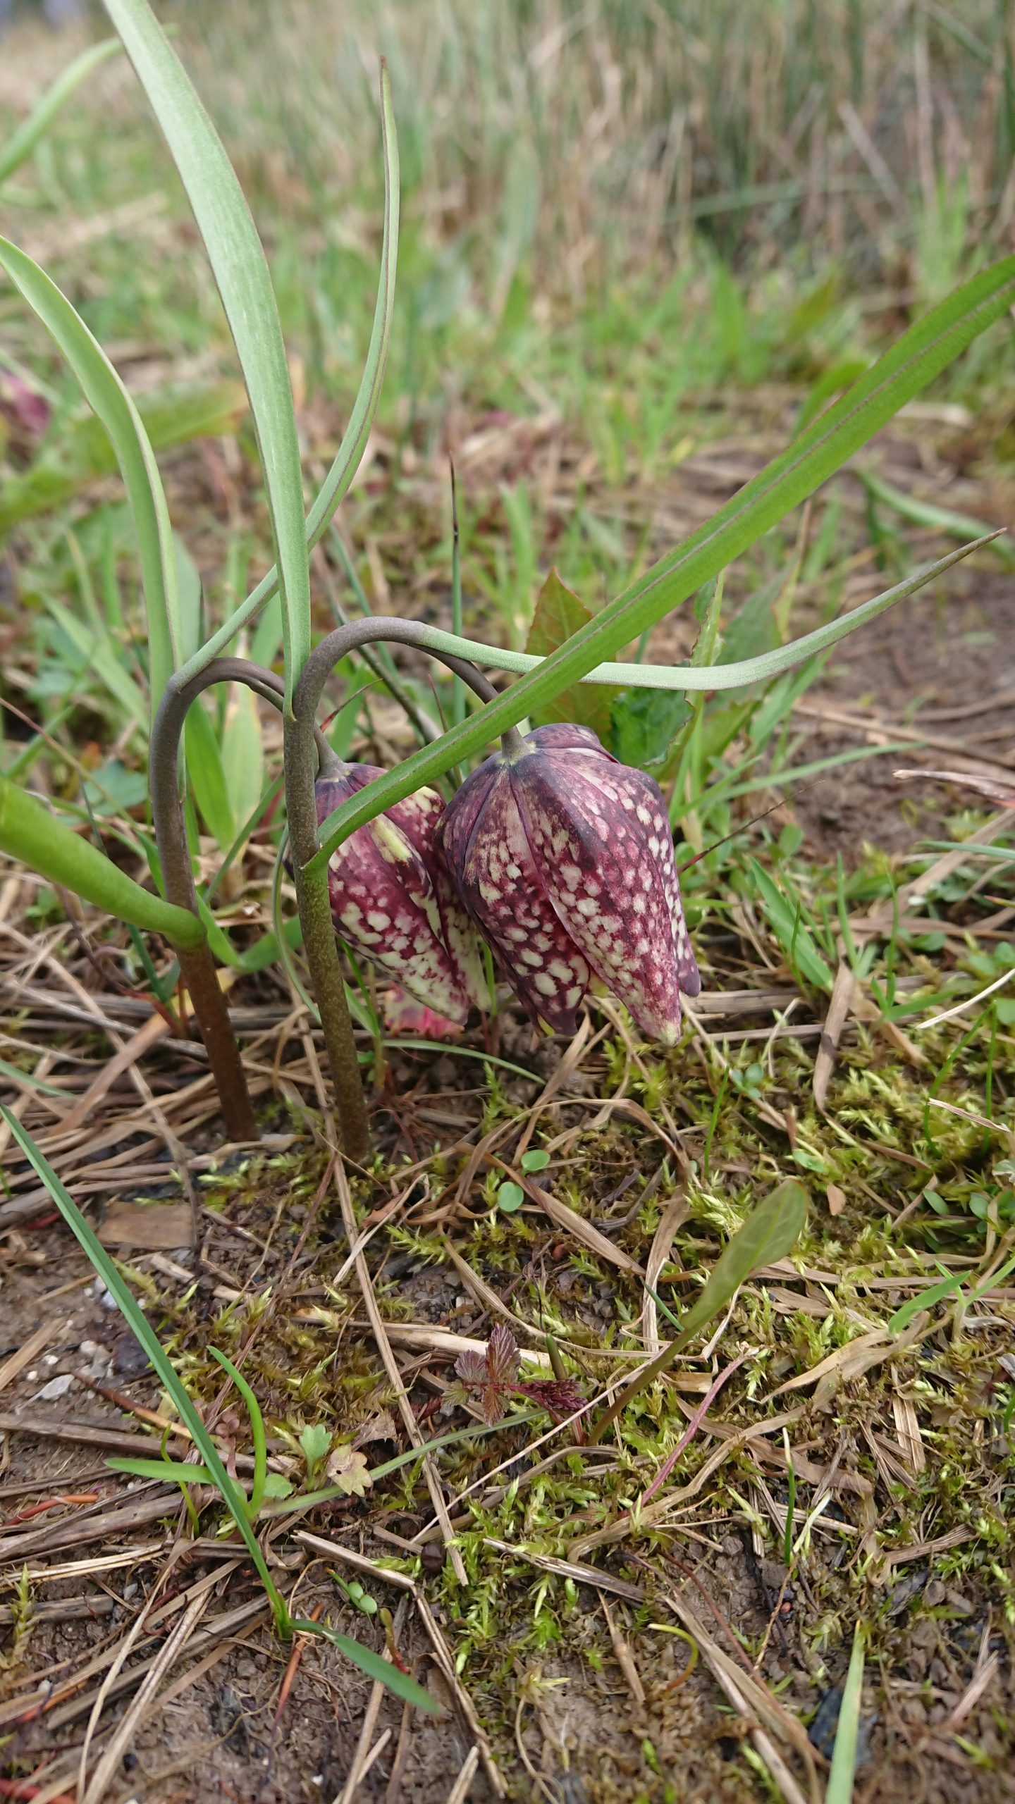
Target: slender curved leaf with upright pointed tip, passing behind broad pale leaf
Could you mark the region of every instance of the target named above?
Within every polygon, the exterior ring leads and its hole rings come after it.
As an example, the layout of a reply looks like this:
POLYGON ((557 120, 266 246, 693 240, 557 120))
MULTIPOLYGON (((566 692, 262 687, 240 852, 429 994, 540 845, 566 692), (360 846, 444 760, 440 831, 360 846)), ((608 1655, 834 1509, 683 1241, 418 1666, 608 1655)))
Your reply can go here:
MULTIPOLYGON (((363 451, 367 449, 367 438, 370 437, 370 428, 377 413, 377 402, 381 399, 381 384, 385 381, 385 370, 388 363, 388 346, 392 341, 392 319, 396 307, 396 265, 397 265, 397 240, 399 240, 399 150, 396 119, 392 110, 392 85, 388 79, 386 65, 381 63, 381 132, 385 148, 385 235, 381 240, 381 276, 377 283, 377 301, 374 305, 374 325, 370 330, 370 346, 367 350, 367 364, 363 368, 363 377, 359 381, 359 391, 352 404, 352 413, 349 415, 349 426, 345 428, 341 444, 334 455, 334 462, 320 487, 320 494, 311 507, 305 521, 307 547, 312 550, 318 539, 323 536, 331 525, 336 509, 341 505, 349 492, 349 485, 359 469, 363 460, 363 451)), ((240 608, 229 615, 229 619, 211 635, 206 646, 197 653, 195 658, 186 666, 186 676, 197 676, 211 658, 217 658, 220 651, 229 644, 237 633, 253 621, 262 608, 267 606, 273 595, 278 594, 278 568, 273 565, 267 575, 260 579, 256 588, 247 595, 240 608)), ((258 658, 255 649, 255 662, 264 662, 258 658)))

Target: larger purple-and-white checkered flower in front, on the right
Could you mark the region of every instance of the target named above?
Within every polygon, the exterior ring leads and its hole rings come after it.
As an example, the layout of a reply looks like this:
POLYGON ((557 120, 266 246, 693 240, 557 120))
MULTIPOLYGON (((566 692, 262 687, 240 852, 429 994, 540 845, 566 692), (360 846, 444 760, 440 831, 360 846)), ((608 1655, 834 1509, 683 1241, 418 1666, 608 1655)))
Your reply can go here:
POLYGON ((659 785, 589 727, 508 738, 441 815, 448 870, 533 1021, 573 1034, 592 974, 648 1039, 697 996, 659 785))

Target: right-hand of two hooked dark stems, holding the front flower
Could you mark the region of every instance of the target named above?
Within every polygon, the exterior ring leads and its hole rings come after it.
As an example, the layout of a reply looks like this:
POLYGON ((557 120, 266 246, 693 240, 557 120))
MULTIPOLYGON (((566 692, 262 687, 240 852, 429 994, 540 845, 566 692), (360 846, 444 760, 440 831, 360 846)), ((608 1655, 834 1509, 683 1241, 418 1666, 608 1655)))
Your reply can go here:
MULTIPOLYGON (((345 1149, 352 1158, 363 1158, 368 1146, 367 1104, 359 1081, 359 1061, 352 1039, 352 1021, 345 999, 345 983, 338 962, 334 924, 331 918, 327 868, 307 873, 320 850, 318 810, 314 801, 312 727, 318 716, 323 687, 331 671, 350 651, 388 640, 397 646, 419 646, 430 657, 446 664, 482 702, 497 695, 493 684, 475 664, 426 644, 428 631, 419 621, 376 615, 349 621, 321 639, 311 651, 293 693, 293 716, 284 716, 285 734, 285 812, 289 842, 293 846, 293 879, 303 925, 303 951, 311 967, 314 998, 321 1014, 321 1028, 334 1081, 338 1115, 345 1149)), ((520 749, 517 729, 504 738, 504 749, 520 749)))

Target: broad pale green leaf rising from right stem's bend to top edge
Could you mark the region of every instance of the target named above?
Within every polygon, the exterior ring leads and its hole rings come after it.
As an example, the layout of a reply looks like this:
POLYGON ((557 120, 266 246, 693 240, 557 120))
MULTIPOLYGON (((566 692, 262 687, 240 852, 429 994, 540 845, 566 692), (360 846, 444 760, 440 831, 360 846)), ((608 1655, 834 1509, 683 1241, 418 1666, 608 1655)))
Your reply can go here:
POLYGON ((155 112, 222 296, 255 417, 280 570, 285 705, 311 649, 311 575, 293 388, 267 262, 222 141, 146 0, 105 0, 155 112))

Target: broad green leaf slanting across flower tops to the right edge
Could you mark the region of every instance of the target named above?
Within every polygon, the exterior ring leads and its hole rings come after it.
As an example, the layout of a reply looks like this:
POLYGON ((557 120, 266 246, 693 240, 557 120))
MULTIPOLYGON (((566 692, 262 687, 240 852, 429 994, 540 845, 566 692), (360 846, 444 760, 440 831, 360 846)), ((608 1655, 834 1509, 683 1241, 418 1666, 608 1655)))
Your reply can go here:
POLYGON ((368 783, 325 823, 323 846, 312 861, 325 870, 347 833, 372 821, 424 783, 435 781, 453 763, 479 752, 493 734, 504 732, 533 707, 549 702, 569 684, 630 644, 641 631, 686 601, 703 583, 740 556, 789 509, 813 494, 847 458, 885 426, 907 400, 934 381, 986 327, 1002 319, 1015 301, 1015 256, 1002 258, 934 307, 827 410, 782 456, 719 509, 683 545, 652 566, 623 595, 574 633, 545 664, 522 676, 479 716, 453 727, 435 747, 406 758, 376 783, 368 783))

